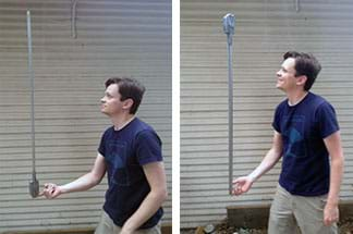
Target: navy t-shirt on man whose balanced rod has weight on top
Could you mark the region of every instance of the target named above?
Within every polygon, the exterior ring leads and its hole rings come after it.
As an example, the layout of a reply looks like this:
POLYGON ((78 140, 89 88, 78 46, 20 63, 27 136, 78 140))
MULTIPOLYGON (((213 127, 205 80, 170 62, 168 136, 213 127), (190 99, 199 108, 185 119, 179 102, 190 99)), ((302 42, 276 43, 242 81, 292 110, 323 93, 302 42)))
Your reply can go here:
POLYGON ((324 138, 339 131, 332 106, 313 93, 295 106, 287 99, 277 107, 272 126, 283 139, 279 184, 293 195, 327 194, 330 164, 324 138))

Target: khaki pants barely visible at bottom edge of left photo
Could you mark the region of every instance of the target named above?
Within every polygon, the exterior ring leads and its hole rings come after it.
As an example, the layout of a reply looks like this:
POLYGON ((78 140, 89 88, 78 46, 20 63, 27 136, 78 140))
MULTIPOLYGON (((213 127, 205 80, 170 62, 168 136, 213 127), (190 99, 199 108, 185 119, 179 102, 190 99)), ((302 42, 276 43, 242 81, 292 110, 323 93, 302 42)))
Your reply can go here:
MULTIPOLYGON (((117 226, 110 217, 102 211, 100 222, 95 231, 95 234, 119 234, 121 226, 117 226)), ((150 229, 137 230, 134 234, 161 234, 160 223, 150 229)))

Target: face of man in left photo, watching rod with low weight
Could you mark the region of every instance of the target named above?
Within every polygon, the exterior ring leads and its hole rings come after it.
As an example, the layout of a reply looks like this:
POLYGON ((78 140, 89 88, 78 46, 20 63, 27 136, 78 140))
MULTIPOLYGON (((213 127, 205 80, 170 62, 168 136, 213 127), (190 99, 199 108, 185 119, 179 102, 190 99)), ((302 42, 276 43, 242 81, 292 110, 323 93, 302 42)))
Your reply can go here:
POLYGON ((100 111, 109 116, 122 113, 124 101, 121 101, 120 98, 118 84, 109 85, 105 96, 100 99, 100 111))

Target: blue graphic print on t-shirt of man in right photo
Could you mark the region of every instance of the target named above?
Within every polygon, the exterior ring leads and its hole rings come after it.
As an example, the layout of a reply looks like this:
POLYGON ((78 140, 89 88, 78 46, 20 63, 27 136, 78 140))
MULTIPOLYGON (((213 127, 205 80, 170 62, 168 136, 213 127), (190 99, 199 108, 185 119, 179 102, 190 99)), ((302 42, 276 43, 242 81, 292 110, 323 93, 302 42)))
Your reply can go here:
POLYGON ((304 115, 287 115, 284 116, 283 137, 288 143, 284 149, 284 157, 303 158, 306 156, 304 141, 304 115))

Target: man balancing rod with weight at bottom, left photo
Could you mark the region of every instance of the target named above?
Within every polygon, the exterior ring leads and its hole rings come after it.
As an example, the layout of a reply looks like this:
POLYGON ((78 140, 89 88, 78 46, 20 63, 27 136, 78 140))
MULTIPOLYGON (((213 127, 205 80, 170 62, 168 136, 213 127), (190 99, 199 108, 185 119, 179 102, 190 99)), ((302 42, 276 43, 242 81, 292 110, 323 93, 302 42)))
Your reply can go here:
POLYGON ((87 190, 108 172, 104 212, 95 234, 160 233, 161 204, 167 197, 161 141, 135 116, 145 88, 135 79, 109 78, 101 112, 113 126, 102 135, 92 171, 58 186, 46 184, 44 195, 87 190))

